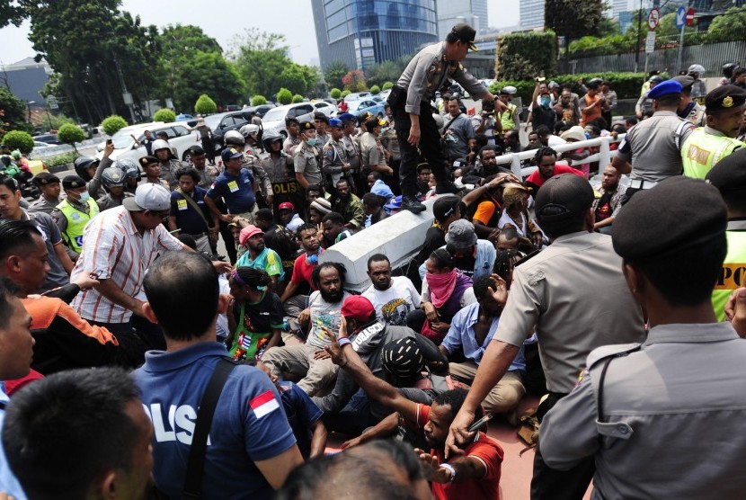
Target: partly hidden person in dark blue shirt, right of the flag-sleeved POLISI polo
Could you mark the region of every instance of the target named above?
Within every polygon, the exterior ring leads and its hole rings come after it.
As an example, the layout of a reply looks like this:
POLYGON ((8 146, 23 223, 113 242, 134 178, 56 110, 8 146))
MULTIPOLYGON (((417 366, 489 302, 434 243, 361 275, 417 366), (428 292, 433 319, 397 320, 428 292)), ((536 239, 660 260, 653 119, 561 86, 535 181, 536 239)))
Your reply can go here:
MULTIPOLYGON (((280 393, 280 401, 288 415, 288 423, 296 436, 298 450, 304 459, 323 457, 326 449, 326 438, 328 433, 321 416, 324 415, 314 401, 298 388, 293 382, 280 380, 277 375, 272 374, 267 365, 261 361, 255 361, 256 367, 267 374, 280 393)), ((248 364, 252 361, 248 360, 248 364)), ((293 471, 295 474, 295 471, 293 471)))

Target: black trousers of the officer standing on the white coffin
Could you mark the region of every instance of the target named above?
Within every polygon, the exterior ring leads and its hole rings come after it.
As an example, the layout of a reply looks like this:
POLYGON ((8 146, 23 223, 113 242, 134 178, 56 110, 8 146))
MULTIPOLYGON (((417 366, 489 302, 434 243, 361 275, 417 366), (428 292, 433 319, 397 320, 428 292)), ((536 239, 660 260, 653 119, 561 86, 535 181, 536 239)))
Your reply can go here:
POLYGON ((435 175, 439 183, 448 180, 446 158, 443 156, 438 125, 432 119, 430 102, 423 101, 420 103, 420 148, 418 150, 417 147, 413 147, 407 142, 412 121, 409 119, 409 113, 404 110, 406 95, 398 101, 392 106, 392 112, 394 112, 399 152, 402 156, 399 165, 399 180, 402 186, 402 195, 414 198, 417 194, 417 164, 420 163, 420 152, 422 151, 422 156, 427 159, 432 174, 435 175))

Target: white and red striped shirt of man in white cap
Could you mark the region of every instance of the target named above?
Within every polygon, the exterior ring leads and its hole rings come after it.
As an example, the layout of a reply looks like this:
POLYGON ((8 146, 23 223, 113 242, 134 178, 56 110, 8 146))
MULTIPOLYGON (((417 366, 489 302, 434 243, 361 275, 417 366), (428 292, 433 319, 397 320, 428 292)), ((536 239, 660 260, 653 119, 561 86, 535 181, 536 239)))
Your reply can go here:
MULTIPOLYGON (((111 280, 126 294, 141 300, 145 300, 145 272, 158 254, 184 247, 163 225, 140 235, 123 206, 102 211, 85 225, 83 235, 83 250, 70 280, 95 272, 100 280, 111 280)), ((127 323, 132 316, 132 311, 94 289, 81 291, 70 305, 90 321, 127 323)))

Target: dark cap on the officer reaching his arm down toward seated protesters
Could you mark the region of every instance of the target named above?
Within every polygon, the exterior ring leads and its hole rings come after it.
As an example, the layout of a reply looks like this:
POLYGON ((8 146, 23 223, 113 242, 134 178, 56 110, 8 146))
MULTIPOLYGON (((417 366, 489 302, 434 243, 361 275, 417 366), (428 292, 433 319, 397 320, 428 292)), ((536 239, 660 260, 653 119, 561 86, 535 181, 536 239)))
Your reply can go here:
MULTIPOLYGON (((539 224, 569 219, 591 208, 593 188, 580 175, 559 174, 549 178, 537 192, 539 224)), ((616 222, 615 222, 616 224, 616 222)))

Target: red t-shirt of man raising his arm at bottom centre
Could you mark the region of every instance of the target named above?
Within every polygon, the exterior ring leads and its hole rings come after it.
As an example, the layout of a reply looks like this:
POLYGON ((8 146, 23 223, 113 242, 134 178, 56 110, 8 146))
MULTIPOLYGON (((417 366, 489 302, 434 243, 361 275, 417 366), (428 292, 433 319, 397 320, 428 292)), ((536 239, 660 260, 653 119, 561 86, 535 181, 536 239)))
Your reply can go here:
MULTIPOLYGON (((417 405, 417 426, 422 429, 430 420, 430 406, 417 405)), ((431 450, 431 455, 443 463, 443 451, 431 450)), ((484 478, 468 479, 462 483, 432 483, 432 496, 436 500, 500 500, 500 473, 503 451, 497 442, 485 433, 478 433, 475 441, 466 446, 466 457, 474 457, 484 463, 487 474, 484 478)))

